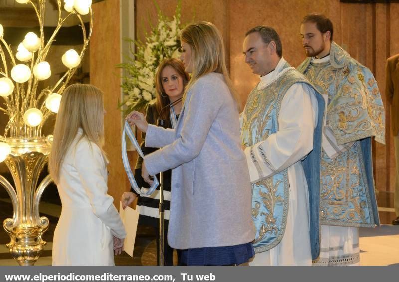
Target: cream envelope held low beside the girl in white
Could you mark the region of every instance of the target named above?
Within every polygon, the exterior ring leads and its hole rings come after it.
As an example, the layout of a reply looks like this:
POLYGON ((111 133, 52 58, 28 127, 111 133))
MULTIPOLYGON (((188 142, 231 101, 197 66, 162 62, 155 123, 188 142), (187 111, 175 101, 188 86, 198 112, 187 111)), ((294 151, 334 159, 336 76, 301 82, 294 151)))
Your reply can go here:
POLYGON ((119 204, 119 215, 126 230, 126 238, 123 243, 125 252, 133 257, 134 241, 136 240, 137 224, 139 223, 139 206, 134 210, 131 207, 122 208, 122 202, 119 204))

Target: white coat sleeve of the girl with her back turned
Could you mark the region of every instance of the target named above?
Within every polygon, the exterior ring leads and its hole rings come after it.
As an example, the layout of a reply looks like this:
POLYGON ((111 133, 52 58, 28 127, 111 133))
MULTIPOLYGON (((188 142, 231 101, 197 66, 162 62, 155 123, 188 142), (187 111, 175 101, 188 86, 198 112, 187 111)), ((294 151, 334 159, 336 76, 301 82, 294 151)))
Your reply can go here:
POLYGON ((126 237, 125 228, 114 206, 114 199, 107 194, 104 177, 105 161, 100 148, 87 140, 76 146, 75 163, 94 214, 111 229, 111 234, 120 239, 126 237))

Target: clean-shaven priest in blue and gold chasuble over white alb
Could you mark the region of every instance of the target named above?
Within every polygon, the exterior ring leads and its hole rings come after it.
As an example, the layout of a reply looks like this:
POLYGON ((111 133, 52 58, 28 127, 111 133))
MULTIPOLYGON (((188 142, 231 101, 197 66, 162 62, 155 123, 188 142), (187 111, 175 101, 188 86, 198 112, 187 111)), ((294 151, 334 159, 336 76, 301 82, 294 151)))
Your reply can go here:
POLYGON ((243 47, 260 76, 241 115, 256 227, 250 265, 311 265, 319 252, 324 100, 282 57, 273 28, 252 28, 243 47))

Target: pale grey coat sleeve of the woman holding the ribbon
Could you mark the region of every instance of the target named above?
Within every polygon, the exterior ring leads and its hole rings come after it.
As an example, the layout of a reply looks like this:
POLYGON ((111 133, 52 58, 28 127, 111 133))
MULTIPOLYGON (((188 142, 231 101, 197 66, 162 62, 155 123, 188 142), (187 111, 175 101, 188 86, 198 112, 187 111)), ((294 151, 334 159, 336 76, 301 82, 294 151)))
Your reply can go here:
MULTIPOLYGON (((185 106, 183 127, 172 144, 145 156, 144 161, 150 175, 175 168, 189 162, 200 154, 208 132, 223 103, 225 95, 211 81, 197 81, 191 88, 189 101, 185 106)), ((156 129, 158 132, 158 129, 156 129)), ((155 134, 155 127, 149 126, 149 133, 155 134)), ((162 131, 159 131, 162 132, 162 131)))

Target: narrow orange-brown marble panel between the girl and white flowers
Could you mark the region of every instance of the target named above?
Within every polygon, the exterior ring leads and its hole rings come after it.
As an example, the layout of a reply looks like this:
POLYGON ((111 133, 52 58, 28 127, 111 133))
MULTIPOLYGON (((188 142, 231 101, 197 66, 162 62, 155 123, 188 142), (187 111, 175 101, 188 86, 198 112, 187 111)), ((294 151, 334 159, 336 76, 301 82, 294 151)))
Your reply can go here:
POLYGON ((108 165, 108 193, 119 208, 121 194, 126 191, 126 174, 121 159, 122 117, 118 109, 120 71, 119 0, 93 4, 95 24, 90 42, 90 83, 104 92, 105 151, 108 165))

